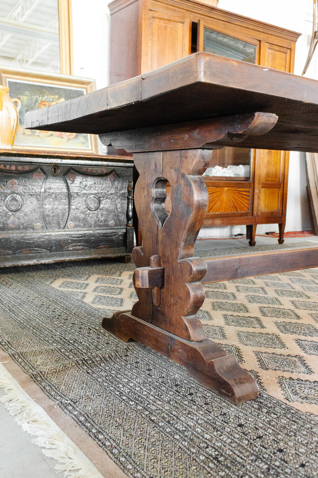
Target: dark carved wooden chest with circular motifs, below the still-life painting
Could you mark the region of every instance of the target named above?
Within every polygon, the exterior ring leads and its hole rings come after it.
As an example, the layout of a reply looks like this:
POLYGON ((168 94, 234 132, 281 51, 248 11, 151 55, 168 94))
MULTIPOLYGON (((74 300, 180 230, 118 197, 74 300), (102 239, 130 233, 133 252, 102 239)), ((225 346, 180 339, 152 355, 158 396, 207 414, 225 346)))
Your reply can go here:
POLYGON ((130 259, 133 162, 0 151, 0 267, 130 259))

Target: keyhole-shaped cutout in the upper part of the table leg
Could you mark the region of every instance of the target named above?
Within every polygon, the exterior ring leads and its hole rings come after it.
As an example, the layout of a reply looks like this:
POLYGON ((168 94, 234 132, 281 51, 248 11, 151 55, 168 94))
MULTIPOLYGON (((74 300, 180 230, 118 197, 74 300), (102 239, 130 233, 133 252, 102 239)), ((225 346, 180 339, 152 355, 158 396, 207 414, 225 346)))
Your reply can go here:
POLYGON ((152 192, 153 197, 151 200, 151 210, 159 228, 161 229, 164 225, 164 221, 169 217, 171 213, 171 187, 169 181, 163 177, 156 178, 154 180, 152 192))

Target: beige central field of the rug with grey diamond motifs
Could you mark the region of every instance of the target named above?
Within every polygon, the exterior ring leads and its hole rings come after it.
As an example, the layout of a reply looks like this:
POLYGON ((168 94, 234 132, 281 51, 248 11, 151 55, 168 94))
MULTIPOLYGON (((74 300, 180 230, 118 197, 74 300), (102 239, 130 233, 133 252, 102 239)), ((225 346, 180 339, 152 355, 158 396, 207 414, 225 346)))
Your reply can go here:
MULTIPOLYGON (((132 272, 51 286, 104 315, 137 300, 132 272)), ((205 297, 199 316, 206 336, 254 370, 268 394, 318 415, 318 269, 205 284, 205 297)))

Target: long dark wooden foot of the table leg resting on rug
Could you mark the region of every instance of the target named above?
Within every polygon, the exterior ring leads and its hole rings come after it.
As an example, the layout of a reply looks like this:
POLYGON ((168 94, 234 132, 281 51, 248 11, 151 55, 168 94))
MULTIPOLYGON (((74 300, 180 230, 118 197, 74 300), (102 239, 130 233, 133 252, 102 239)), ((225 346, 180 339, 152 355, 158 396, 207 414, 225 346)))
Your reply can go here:
POLYGON ((237 405, 258 396, 251 375, 241 369, 233 354, 226 355, 212 340, 189 342, 129 312, 115 312, 113 317, 104 317, 103 328, 124 342, 136 340, 183 365, 190 377, 229 402, 237 405))

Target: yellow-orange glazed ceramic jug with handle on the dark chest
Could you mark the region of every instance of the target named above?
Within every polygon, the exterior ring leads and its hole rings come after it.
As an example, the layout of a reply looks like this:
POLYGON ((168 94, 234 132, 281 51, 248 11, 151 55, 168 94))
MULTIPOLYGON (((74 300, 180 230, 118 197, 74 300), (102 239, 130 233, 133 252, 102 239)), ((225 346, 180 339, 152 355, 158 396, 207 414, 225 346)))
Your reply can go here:
POLYGON ((0 148, 11 149, 14 143, 15 133, 18 128, 18 111, 21 101, 18 98, 11 99, 10 89, 0 85, 0 148), (13 101, 18 104, 18 109, 13 101))

